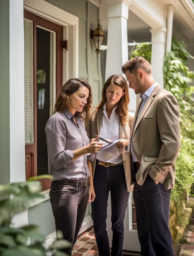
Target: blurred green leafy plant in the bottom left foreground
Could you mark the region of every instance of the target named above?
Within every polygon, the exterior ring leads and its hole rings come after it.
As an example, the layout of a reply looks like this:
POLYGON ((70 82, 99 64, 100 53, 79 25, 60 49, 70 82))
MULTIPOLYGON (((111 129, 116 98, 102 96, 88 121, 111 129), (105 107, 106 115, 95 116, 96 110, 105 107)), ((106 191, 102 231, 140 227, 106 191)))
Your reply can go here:
POLYGON ((0 185, 0 256, 67 255, 58 250, 71 246, 62 239, 62 234, 57 234, 61 238, 58 242, 48 245, 45 237, 38 233, 38 226, 16 228, 11 225, 14 214, 28 209, 34 200, 44 198, 40 191, 38 181, 0 185))

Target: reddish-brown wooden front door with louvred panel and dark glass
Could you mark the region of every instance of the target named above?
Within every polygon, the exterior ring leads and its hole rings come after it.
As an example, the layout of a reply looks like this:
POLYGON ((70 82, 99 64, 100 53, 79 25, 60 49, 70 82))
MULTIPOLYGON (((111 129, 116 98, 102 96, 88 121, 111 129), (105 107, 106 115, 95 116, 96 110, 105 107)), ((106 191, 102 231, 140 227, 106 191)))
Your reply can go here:
MULTIPOLYGON (((48 174, 45 124, 62 88, 62 27, 24 11, 26 178, 48 174)), ((43 190, 49 180, 42 180, 43 190)))

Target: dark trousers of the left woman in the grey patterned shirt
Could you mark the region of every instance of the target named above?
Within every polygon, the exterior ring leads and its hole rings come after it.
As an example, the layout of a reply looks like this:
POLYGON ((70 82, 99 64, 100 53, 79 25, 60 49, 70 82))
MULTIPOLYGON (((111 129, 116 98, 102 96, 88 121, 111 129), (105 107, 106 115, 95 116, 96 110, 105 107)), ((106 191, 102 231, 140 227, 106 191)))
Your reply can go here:
POLYGON ((71 248, 62 249, 71 255, 76 243, 88 204, 89 186, 75 187, 71 185, 51 183, 49 192, 51 207, 55 219, 56 230, 61 230, 63 238, 68 240, 71 248))

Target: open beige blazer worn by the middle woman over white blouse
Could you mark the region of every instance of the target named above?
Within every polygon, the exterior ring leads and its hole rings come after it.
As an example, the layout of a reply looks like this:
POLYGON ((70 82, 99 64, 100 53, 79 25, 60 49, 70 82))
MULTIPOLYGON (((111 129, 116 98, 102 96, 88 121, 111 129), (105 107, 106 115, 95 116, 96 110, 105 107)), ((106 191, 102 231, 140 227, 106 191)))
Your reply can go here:
MULTIPOLYGON (((119 139, 128 139, 131 135, 131 128, 134 120, 134 114, 132 112, 128 112, 129 116, 129 123, 128 125, 123 126, 122 124, 119 124, 119 139)), ((100 129, 102 126, 103 121, 103 108, 97 109, 94 108, 92 110, 92 118, 91 121, 86 125, 86 131, 89 139, 95 138, 94 134, 100 135, 100 129)), ((127 191, 130 192, 133 190, 133 175, 131 173, 131 166, 129 164, 129 152, 125 152, 121 154, 123 159, 123 166, 125 170, 125 181, 127 185, 127 191)), ((92 166, 92 175, 94 177, 94 171, 96 167, 96 159, 94 159, 93 162, 91 162, 92 166)))

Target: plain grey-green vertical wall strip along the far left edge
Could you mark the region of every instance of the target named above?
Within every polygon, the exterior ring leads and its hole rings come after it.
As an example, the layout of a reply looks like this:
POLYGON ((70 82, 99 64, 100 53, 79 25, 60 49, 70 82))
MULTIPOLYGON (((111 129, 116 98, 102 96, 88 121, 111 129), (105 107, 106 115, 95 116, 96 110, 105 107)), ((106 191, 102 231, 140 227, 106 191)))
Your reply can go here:
POLYGON ((0 184, 10 181, 9 1, 0 1, 0 184))

